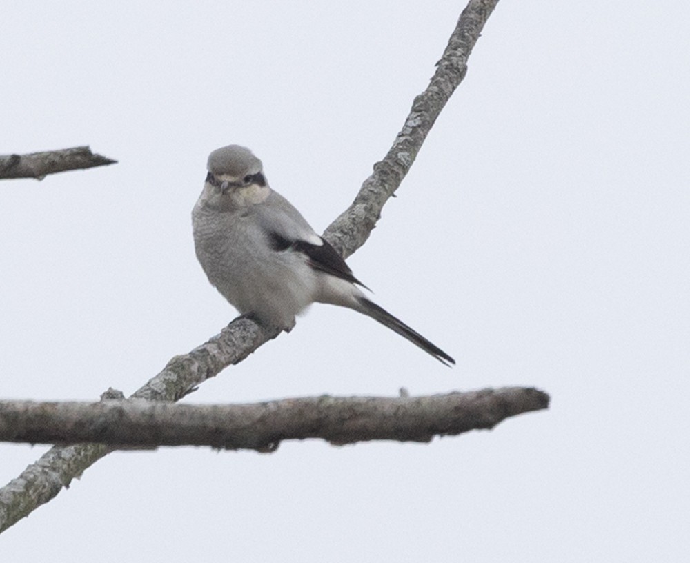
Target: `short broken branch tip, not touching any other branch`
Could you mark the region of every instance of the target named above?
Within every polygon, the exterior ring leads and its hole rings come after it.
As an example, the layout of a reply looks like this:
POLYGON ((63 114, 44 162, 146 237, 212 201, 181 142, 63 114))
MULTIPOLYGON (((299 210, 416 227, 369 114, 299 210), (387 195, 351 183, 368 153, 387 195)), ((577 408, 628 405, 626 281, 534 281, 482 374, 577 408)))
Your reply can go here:
POLYGON ((42 180, 48 174, 116 163, 117 160, 95 155, 88 146, 31 152, 28 155, 0 155, 0 179, 42 180))

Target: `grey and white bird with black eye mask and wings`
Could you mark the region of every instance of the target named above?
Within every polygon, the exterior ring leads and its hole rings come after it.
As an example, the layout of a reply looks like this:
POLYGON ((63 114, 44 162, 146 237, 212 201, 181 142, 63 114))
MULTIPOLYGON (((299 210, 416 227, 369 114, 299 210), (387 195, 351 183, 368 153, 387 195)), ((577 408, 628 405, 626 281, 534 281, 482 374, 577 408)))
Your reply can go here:
POLYGON ((208 280, 239 313, 291 330, 314 302, 351 308, 395 330, 440 362, 455 360, 368 299, 335 248, 264 176, 245 147, 211 152, 204 190, 192 212, 197 258, 208 280))

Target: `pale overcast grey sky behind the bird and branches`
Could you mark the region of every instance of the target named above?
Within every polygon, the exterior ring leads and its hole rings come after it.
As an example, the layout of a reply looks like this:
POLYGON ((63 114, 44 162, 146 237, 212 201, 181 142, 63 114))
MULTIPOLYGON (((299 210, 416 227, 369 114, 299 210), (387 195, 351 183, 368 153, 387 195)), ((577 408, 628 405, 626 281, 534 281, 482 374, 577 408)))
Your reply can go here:
MULTIPOLYGON (((0 397, 135 391, 234 310, 193 252, 208 152, 249 146, 321 231, 464 2, 12 3, 0 153, 119 164, 0 183, 0 397)), ((500 2, 349 264, 444 348, 314 306, 188 402, 529 385, 549 411, 428 445, 117 453, 3 562, 678 562, 690 556, 690 6, 500 2)), ((0 486, 46 448, 0 444, 0 486)))

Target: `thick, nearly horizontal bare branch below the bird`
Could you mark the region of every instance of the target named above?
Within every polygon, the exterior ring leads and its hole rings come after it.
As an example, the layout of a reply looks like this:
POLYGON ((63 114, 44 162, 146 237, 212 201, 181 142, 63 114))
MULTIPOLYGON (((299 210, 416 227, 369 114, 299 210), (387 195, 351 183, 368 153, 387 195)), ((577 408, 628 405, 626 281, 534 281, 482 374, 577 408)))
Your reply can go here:
POLYGON ((0 440, 257 451, 273 451, 284 439, 429 442, 434 436, 493 428, 507 417, 548 406, 549 395, 522 387, 425 397, 324 395, 231 405, 4 401, 0 440))

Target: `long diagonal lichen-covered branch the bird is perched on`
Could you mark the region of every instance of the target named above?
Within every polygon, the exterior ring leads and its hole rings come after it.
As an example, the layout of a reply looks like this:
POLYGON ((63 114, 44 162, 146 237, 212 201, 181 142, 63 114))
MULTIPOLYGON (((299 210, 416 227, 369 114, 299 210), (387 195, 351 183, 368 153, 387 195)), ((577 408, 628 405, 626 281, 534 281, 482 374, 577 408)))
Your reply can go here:
MULTIPOLYGON (((353 205, 326 229, 324 236, 343 255, 364 244, 380 216, 382 206, 400 186, 428 130, 466 72, 466 61, 498 0, 470 0, 457 22, 449 45, 431 83, 415 98, 410 115, 393 148, 359 190, 353 205), (420 128, 420 134, 415 130, 420 128)), ((275 329, 250 319, 235 319, 190 355, 173 358, 164 371, 135 393, 135 397, 177 400, 222 369, 242 361, 259 346, 277 336, 275 329)), ((0 489, 0 531, 12 526, 40 504, 55 497, 62 486, 106 455, 100 444, 55 446, 41 459, 0 489)))

